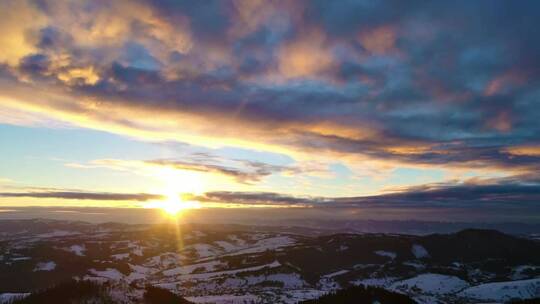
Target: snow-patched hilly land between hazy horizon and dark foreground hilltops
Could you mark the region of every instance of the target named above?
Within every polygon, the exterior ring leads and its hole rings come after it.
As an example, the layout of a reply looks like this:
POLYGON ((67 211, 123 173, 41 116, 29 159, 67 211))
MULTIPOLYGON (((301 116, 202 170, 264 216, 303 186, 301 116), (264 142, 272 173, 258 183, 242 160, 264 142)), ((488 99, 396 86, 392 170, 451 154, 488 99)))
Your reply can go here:
POLYGON ((313 235, 285 227, 6 220, 0 252, 2 302, 73 278, 105 286, 118 303, 140 303, 149 286, 194 303, 297 303, 354 285, 418 303, 540 297, 540 242, 493 230, 313 235))

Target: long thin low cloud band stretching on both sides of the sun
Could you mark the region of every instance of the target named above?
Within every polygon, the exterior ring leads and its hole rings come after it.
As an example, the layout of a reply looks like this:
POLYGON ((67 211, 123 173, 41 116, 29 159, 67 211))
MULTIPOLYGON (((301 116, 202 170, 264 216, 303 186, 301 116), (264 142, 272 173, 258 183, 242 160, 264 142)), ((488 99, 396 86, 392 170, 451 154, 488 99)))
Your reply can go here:
MULTIPOLYGON (((417 207, 527 207, 540 201, 540 178, 528 183, 516 180, 471 180, 465 183, 428 184, 403 188, 388 194, 360 197, 297 196, 274 192, 213 191, 185 194, 204 203, 308 208, 417 208, 417 207)), ((94 201, 150 201, 164 196, 149 193, 89 192, 62 189, 29 189, 0 192, 0 197, 58 198, 94 201)))

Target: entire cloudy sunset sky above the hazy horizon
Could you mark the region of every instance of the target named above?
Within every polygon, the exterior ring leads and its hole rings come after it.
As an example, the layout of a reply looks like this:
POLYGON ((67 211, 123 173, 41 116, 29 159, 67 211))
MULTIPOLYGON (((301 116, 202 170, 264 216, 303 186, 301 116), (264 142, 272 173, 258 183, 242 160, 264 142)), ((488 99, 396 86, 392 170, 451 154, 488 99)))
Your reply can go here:
POLYGON ((0 207, 540 222, 539 26, 526 0, 2 1, 0 207))

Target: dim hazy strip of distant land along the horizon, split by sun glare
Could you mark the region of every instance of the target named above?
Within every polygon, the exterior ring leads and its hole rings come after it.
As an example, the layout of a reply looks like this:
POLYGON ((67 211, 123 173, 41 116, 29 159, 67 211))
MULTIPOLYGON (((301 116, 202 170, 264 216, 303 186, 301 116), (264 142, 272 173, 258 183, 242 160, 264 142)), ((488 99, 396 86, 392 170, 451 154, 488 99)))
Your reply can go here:
MULTIPOLYGON (((126 224, 159 224, 166 219, 159 209, 146 208, 68 208, 68 207, 11 207, 0 209, 2 220, 26 220, 32 218, 47 218, 55 220, 74 219, 89 223, 126 223, 126 224)), ((256 225, 257 229, 265 226, 265 230, 295 232, 307 235, 322 235, 336 233, 400 233, 425 235, 430 233, 452 233, 463 229, 499 230, 513 235, 540 238, 538 222, 493 222, 493 221, 441 221, 428 220, 383 220, 363 218, 361 216, 341 217, 334 212, 324 214, 310 210, 295 210, 283 208, 251 209, 194 209, 184 211, 181 217, 183 223, 212 223, 256 225)), ((356 214, 355 214, 356 215, 356 214)))

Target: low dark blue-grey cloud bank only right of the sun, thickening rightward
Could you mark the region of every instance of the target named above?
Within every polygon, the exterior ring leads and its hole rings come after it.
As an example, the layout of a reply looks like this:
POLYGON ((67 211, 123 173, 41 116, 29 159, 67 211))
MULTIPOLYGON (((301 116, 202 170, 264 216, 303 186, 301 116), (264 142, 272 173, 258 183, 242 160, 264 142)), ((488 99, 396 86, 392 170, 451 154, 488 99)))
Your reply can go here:
POLYGON ((538 208, 539 180, 529 183, 489 181, 488 183, 432 184, 401 189, 389 194, 361 197, 310 197, 272 192, 207 192, 194 199, 235 205, 289 206, 306 208, 538 208))

